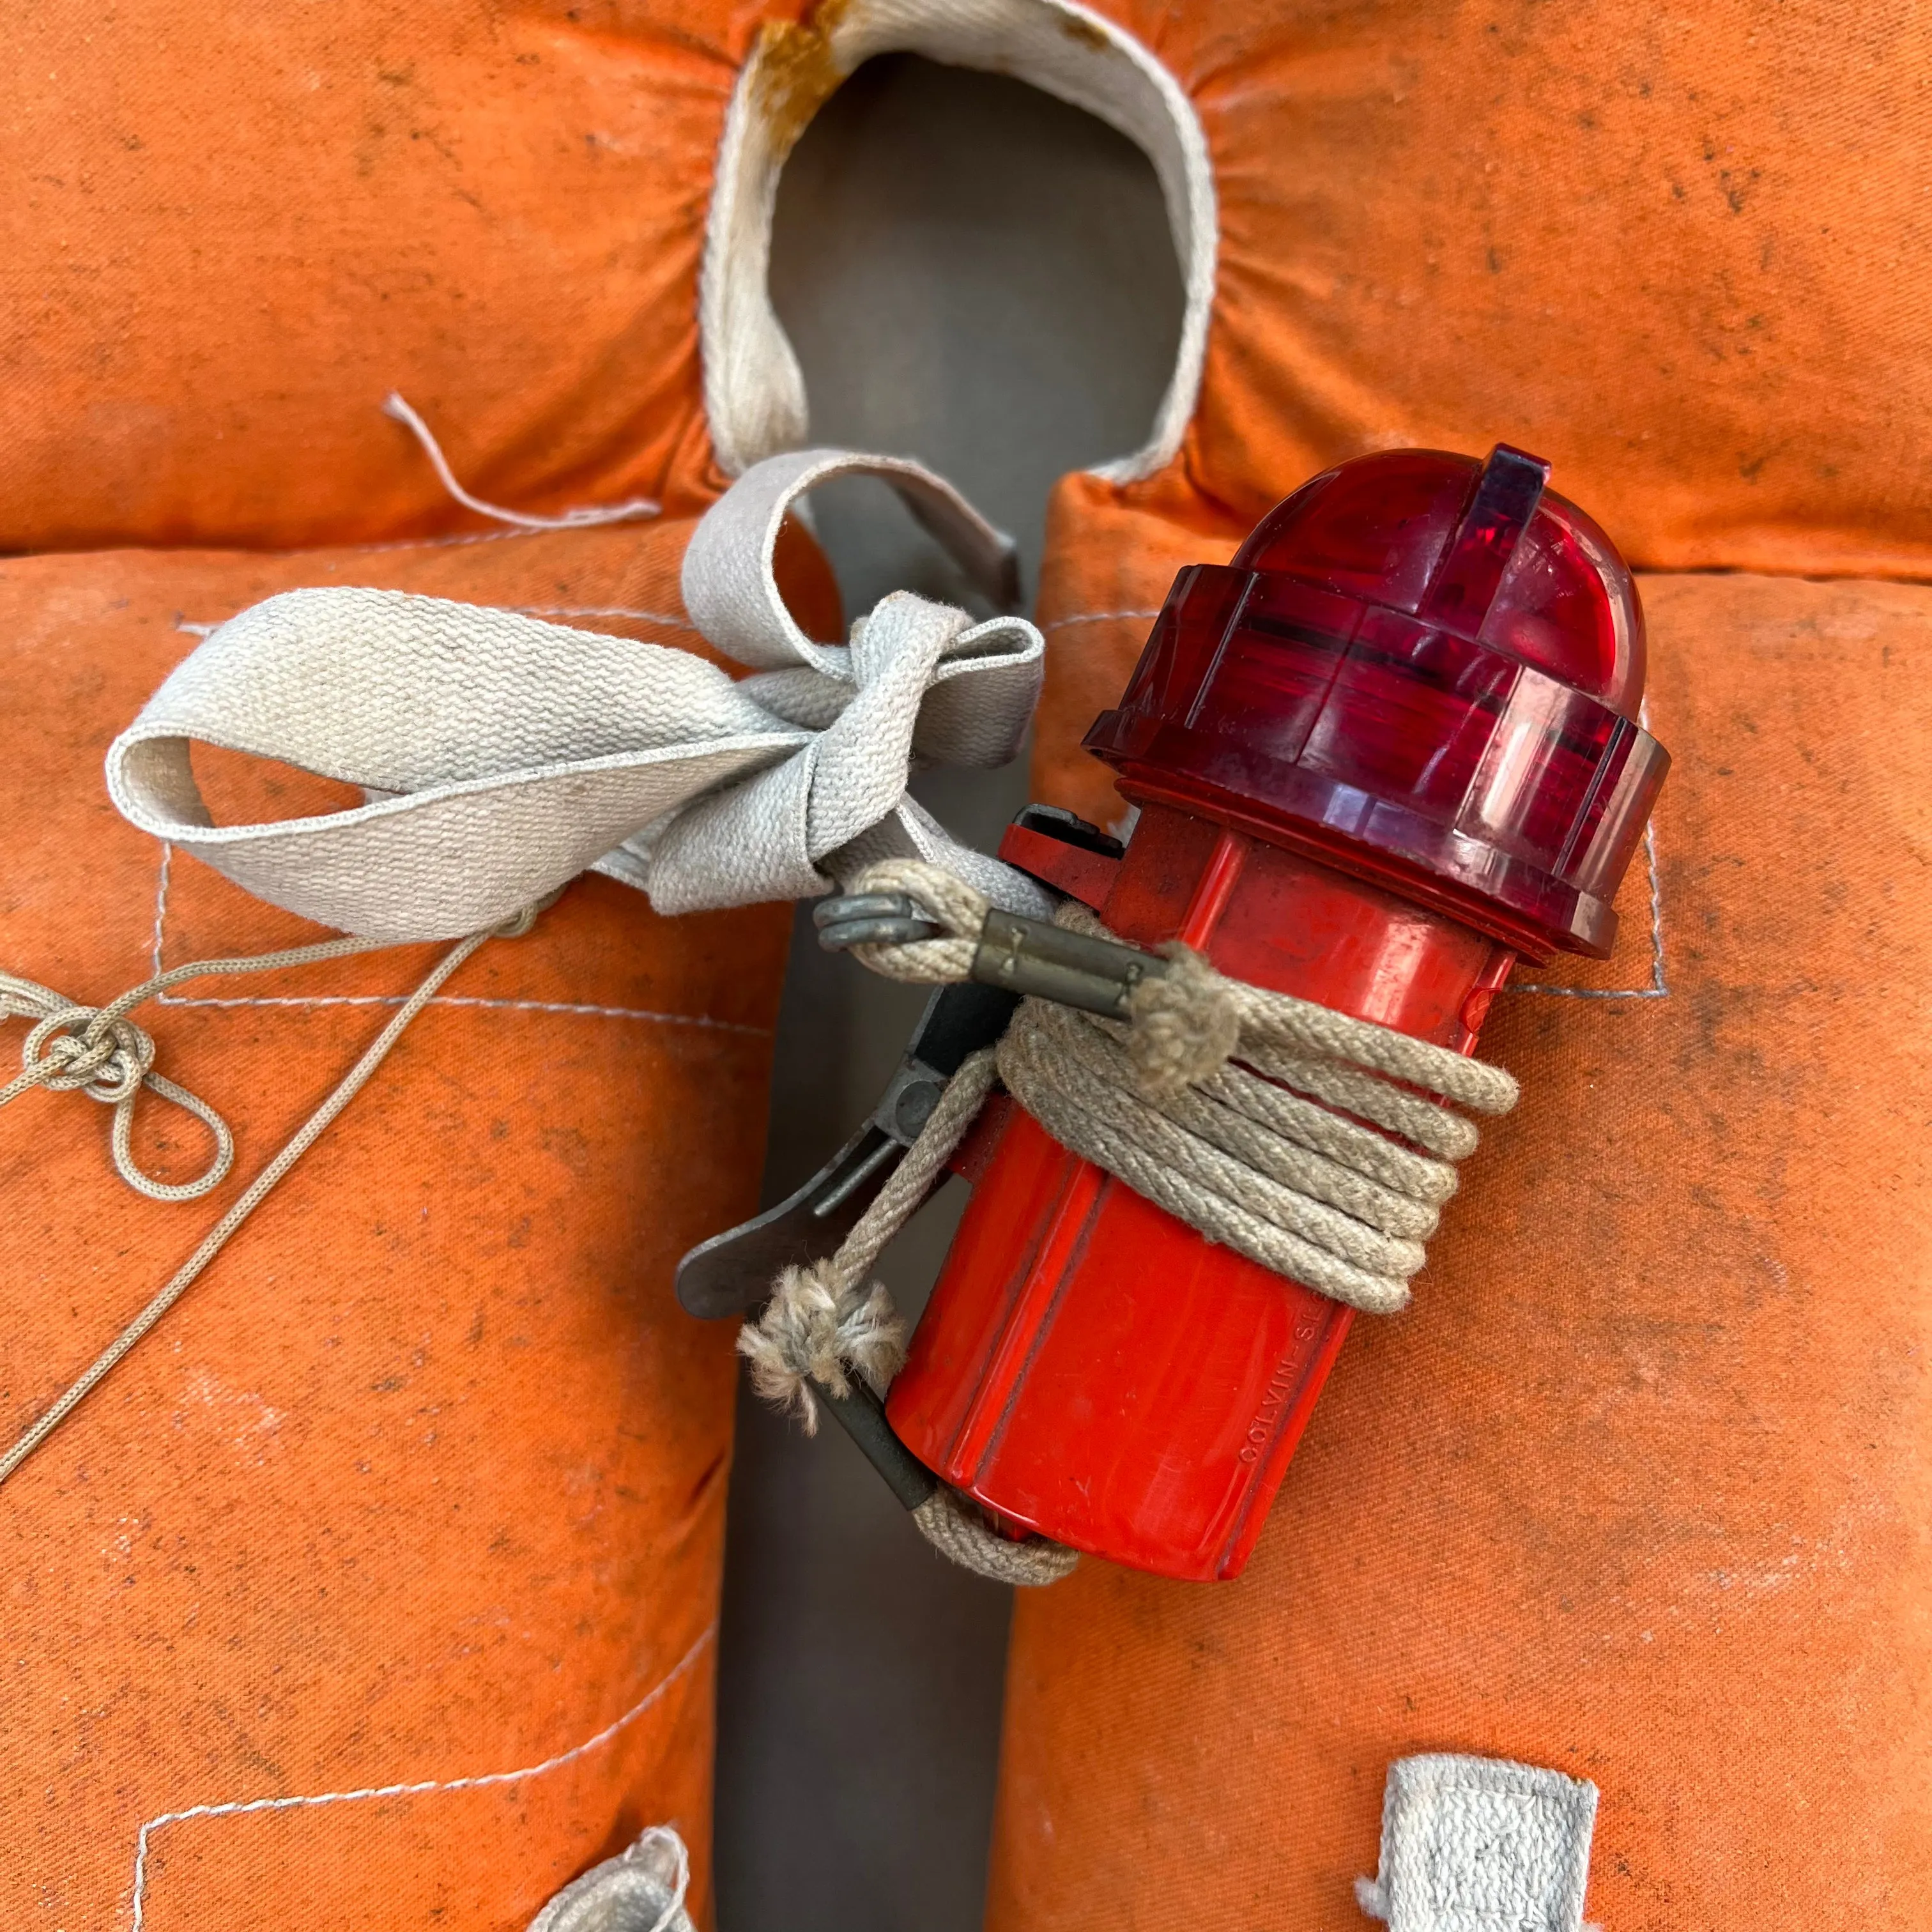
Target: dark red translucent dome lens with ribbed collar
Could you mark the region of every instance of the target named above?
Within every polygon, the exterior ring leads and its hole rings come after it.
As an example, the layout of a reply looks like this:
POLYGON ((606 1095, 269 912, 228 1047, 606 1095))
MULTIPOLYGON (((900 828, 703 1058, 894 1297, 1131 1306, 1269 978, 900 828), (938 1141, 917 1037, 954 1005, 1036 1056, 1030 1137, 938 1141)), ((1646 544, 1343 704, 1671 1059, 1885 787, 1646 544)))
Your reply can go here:
POLYGON ((1171 798, 1391 879, 1530 952, 1607 952, 1667 765, 1609 539, 1499 446, 1364 456, 1175 582, 1088 734, 1171 798))

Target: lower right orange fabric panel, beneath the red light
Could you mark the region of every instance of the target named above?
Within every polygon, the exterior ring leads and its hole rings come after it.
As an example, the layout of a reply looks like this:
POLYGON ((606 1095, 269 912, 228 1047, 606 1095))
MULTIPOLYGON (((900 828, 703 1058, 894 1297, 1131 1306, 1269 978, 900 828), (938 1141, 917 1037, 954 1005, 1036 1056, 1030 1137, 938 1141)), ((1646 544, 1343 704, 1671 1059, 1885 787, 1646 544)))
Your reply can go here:
POLYGON ((1617 997, 1499 1001, 1246 1577, 1022 1594, 997 1932, 1358 1924, 1418 1750, 1594 1779, 1617 1932, 1932 1922, 1932 589, 1642 593, 1660 958, 1519 970, 1617 997))

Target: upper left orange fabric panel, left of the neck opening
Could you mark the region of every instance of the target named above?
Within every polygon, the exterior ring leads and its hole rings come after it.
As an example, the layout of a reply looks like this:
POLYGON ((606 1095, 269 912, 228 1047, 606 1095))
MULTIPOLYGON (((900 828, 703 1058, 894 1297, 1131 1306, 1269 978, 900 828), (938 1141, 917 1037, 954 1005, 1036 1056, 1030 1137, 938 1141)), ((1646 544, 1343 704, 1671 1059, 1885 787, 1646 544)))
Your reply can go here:
POLYGON ((697 261, 757 12, 8 8, 0 549, 473 527, 392 388, 489 500, 690 508, 697 261))

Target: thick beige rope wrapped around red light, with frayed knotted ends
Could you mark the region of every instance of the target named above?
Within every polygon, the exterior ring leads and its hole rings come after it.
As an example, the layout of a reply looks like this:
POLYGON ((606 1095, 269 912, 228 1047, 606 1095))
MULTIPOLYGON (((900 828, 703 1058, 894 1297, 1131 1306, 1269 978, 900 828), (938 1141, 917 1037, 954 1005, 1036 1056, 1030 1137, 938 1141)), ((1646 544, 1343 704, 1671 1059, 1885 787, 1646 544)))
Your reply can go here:
MULTIPOLYGON (((904 895, 939 927, 929 939, 852 947, 862 964, 922 985, 972 976, 983 893, 920 860, 871 866, 854 891, 904 895)), ((1057 918, 1111 937, 1072 900, 1057 918)), ((838 1252, 786 1269, 746 1325, 738 1347, 761 1395, 810 1426, 813 1381, 842 1395, 848 1370, 877 1389, 898 1370, 904 1323, 871 1269, 995 1080, 1065 1148, 1209 1240, 1352 1308, 1406 1306, 1424 1242, 1455 1194, 1455 1163, 1476 1146, 1476 1128, 1447 1103, 1501 1115, 1517 1103, 1517 1082, 1395 1028, 1229 980, 1184 947, 1165 952, 1167 972, 1134 987, 1126 1020, 1026 999, 999 1045, 960 1066, 838 1252)), ((1045 1538, 997 1536, 943 1486, 927 1509, 927 1538, 983 1575, 1051 1582, 1076 1561, 1045 1538)))

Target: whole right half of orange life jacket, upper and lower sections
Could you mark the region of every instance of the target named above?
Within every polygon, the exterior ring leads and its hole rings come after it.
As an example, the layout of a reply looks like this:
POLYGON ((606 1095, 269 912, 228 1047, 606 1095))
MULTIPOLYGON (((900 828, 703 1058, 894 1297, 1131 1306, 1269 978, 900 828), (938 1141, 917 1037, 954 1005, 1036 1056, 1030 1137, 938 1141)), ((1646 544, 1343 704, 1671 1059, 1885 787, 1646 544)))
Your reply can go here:
POLYGON ((1519 442, 1634 560, 1770 574, 1644 578, 1654 871, 1499 1003, 1524 1103, 1248 1573, 1022 1594, 991 1932, 1362 1924, 1428 1750, 1594 1779, 1617 1932, 1924 1926, 1924 21, 1109 12, 1221 270, 1177 462, 1055 495, 1039 794, 1119 813, 1078 738, 1175 570, 1368 448, 1519 442))

